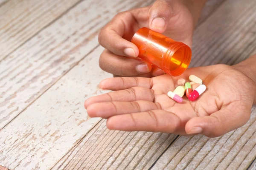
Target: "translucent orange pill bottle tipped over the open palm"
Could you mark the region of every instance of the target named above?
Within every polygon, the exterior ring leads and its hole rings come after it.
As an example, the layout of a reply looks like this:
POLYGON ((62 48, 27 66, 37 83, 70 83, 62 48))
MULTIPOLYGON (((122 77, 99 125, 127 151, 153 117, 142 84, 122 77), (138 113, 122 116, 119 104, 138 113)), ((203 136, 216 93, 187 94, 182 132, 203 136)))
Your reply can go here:
POLYGON ((138 57, 156 65, 167 74, 179 76, 189 66, 192 51, 183 42, 177 42, 148 28, 140 28, 131 42, 139 48, 138 57))

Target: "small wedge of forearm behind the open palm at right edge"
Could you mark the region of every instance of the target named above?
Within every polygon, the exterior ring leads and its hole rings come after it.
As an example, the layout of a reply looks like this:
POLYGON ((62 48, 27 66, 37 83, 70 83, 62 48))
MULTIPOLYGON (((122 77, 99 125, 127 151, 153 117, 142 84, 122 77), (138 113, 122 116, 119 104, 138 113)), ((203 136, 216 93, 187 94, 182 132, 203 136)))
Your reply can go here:
MULTIPOLYGON (((237 70, 241 71, 248 77, 250 77, 250 79, 252 79, 256 85, 256 55, 253 55, 253 56, 249 57, 248 59, 246 59, 236 65, 233 65, 233 67, 236 68, 237 70)), ((256 105, 256 97, 254 99, 253 104, 256 105)))

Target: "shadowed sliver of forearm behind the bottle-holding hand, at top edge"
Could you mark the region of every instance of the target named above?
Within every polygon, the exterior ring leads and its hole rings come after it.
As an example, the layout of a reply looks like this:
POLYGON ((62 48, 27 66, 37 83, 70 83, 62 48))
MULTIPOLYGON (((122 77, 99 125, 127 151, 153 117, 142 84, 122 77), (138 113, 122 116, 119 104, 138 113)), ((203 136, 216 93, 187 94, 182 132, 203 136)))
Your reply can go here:
POLYGON ((195 27, 201 15, 201 11, 204 7, 204 4, 207 2, 207 0, 182 0, 182 1, 191 12, 193 16, 194 27, 195 27))

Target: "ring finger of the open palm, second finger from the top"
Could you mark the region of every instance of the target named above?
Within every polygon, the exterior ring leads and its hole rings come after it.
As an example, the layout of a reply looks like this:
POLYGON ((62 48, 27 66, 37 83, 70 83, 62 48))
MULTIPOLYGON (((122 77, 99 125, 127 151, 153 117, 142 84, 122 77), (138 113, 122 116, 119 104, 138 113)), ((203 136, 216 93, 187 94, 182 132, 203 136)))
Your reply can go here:
POLYGON ((91 97, 84 102, 84 107, 98 102, 125 101, 132 102, 135 100, 154 101, 154 91, 148 88, 136 87, 121 91, 112 91, 107 94, 91 97))

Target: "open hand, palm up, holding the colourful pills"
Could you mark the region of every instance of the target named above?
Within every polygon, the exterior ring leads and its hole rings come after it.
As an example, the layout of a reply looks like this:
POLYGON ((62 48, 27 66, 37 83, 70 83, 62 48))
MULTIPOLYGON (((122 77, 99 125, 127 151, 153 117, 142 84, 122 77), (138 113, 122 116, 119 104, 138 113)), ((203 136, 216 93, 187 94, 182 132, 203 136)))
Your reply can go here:
POLYGON ((107 127, 125 131, 167 132, 181 135, 221 136, 250 118, 256 95, 252 79, 228 65, 189 68, 180 77, 105 79, 100 88, 113 90, 84 103, 91 117, 108 119, 107 127), (177 79, 194 74, 207 90, 194 102, 186 95, 177 103, 167 96, 177 79))

